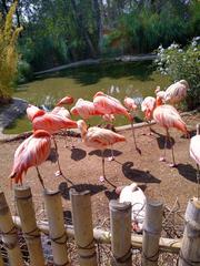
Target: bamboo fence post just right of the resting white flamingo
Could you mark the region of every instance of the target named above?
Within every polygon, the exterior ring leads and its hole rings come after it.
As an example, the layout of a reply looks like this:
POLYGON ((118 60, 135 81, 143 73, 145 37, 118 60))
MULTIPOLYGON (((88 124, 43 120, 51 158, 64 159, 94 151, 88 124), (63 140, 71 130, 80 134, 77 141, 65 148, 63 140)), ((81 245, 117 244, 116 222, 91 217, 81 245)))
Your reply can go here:
POLYGON ((147 202, 143 224, 142 266, 156 266, 159 258, 159 239, 162 231, 162 203, 147 202))

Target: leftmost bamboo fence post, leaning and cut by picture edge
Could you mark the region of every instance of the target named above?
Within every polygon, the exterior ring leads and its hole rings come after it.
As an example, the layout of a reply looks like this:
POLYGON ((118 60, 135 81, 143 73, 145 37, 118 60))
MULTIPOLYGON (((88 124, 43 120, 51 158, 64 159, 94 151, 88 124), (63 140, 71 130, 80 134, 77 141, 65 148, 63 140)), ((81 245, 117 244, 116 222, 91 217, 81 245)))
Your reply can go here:
POLYGON ((2 234, 3 245, 8 252, 10 265, 23 265, 20 246, 18 244, 17 229, 3 192, 0 192, 0 231, 2 234))

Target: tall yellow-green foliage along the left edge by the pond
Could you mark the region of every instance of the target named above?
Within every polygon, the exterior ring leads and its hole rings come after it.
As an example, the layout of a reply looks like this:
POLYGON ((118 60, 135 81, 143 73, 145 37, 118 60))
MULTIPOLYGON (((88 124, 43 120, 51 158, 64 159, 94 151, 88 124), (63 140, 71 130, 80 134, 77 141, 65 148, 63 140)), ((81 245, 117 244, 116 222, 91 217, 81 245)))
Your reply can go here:
POLYGON ((16 43, 22 28, 14 28, 12 22, 17 2, 11 6, 6 20, 0 17, 0 101, 2 102, 11 99, 17 74, 16 43))

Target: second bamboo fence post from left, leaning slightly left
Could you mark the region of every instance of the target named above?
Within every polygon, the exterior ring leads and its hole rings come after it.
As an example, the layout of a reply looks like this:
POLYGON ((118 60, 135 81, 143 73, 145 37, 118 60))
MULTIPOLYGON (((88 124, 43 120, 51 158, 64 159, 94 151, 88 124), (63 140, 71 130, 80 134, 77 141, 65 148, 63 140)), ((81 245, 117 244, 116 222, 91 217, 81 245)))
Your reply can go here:
POLYGON ((21 228, 28 246, 31 266, 44 265, 40 232, 37 227, 36 213, 32 203, 31 188, 29 186, 18 186, 14 188, 14 197, 21 228))

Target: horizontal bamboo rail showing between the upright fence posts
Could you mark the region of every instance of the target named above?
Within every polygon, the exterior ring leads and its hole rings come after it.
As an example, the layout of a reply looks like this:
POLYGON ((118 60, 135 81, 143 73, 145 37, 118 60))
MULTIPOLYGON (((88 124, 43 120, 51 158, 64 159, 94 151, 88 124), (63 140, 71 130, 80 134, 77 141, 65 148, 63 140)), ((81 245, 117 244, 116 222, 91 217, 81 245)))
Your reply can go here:
MULTIPOLYGON (((21 228, 21 222, 18 216, 13 216, 13 221, 18 228, 21 228)), ((64 225, 67 235, 71 238, 74 238, 74 229, 72 225, 64 225)), ((49 234, 49 224, 48 222, 40 221, 38 222, 38 228, 43 234, 49 234)), ((103 231, 100 228, 93 228, 93 238, 99 244, 111 244, 111 234, 109 231, 103 231)), ((142 236, 131 234, 131 244, 132 248, 142 247, 142 236)), ((164 253, 179 254, 181 247, 181 239, 166 238, 160 237, 159 249, 164 253)))

